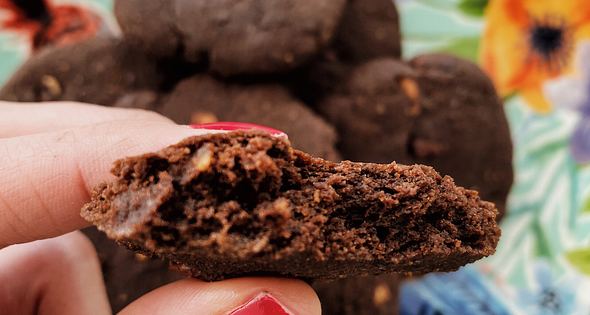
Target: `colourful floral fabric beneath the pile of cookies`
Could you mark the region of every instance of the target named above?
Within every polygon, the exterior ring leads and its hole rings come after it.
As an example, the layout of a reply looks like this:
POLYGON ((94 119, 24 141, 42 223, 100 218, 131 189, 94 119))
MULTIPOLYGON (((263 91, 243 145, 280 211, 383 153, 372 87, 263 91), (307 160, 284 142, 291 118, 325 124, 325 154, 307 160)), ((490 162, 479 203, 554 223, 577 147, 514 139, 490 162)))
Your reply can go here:
MULTIPOLYGON (((105 16, 112 8, 56 2, 105 16)), ((496 254, 405 282, 401 313, 590 314, 590 1, 396 2, 404 58, 442 51, 489 74, 504 98, 515 170, 496 254)), ((17 38, 0 33, 0 85, 28 54, 17 38)))

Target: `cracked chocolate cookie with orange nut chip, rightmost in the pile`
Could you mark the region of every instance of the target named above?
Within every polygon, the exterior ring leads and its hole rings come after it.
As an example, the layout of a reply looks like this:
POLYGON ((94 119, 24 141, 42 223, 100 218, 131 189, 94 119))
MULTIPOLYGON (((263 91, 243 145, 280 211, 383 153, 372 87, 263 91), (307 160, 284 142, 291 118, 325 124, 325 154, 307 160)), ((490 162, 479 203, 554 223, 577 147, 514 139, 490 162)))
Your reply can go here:
POLYGON ((370 61, 318 109, 336 126, 343 158, 432 165, 504 213, 512 141, 502 102, 475 64, 443 54, 370 61))

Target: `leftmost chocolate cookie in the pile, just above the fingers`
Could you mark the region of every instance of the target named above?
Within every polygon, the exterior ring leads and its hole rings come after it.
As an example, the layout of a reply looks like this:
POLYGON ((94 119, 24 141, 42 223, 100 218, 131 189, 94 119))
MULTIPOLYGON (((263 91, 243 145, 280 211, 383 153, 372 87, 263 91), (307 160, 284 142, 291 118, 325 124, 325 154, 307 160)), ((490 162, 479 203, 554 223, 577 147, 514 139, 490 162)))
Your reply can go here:
POLYGON ((34 54, 2 87, 0 99, 113 105, 126 93, 164 83, 155 60, 118 38, 94 37, 34 54))

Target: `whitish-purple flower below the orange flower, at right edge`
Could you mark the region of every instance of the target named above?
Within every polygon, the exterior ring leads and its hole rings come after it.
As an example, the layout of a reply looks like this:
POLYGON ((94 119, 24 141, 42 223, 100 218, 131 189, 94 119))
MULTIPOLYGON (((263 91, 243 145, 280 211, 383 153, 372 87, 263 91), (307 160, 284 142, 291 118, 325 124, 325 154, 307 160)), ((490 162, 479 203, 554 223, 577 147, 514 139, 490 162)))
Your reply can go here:
POLYGON ((560 108, 578 112, 581 119, 570 139, 572 156, 578 163, 590 163, 590 42, 581 41, 575 56, 576 76, 548 80, 546 97, 560 108))

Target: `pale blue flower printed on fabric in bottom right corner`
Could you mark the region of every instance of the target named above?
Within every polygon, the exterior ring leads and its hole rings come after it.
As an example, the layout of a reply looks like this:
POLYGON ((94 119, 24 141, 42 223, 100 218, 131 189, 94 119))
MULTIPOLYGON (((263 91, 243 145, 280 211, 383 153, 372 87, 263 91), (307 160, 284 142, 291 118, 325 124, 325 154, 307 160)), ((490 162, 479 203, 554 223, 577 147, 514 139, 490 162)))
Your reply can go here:
POLYGON ((574 285, 556 281, 545 260, 535 263, 532 291, 520 291, 520 305, 531 315, 566 315, 575 308, 574 285))

